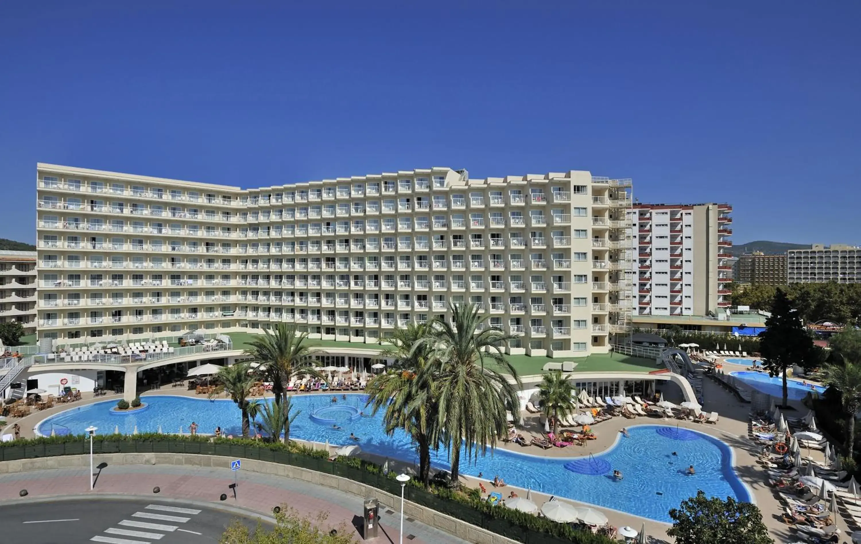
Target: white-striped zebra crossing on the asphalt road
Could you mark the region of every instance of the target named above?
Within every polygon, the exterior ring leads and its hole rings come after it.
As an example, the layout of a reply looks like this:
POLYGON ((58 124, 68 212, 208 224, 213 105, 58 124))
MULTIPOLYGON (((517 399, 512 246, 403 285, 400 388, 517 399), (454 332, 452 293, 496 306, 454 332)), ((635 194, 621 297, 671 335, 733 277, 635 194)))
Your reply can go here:
POLYGON ((149 504, 129 516, 133 519, 121 520, 117 523, 119 527, 105 529, 102 535, 96 535, 90 541, 105 544, 152 544, 175 531, 200 535, 195 531, 180 529, 179 526, 180 523, 188 522, 191 516, 200 513, 201 510, 194 508, 149 504))

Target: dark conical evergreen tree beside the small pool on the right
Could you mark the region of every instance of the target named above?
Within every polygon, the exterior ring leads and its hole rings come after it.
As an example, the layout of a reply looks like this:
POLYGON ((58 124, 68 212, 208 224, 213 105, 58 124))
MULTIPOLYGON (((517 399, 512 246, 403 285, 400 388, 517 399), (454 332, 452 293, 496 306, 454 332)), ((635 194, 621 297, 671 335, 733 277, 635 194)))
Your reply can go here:
POLYGON ((784 381, 785 407, 788 397, 786 370, 792 365, 808 368, 818 358, 813 338, 782 289, 777 290, 771 305, 771 317, 765 319, 765 326, 768 328, 759 333, 759 352, 763 356, 763 368, 768 370, 768 374, 772 377, 781 376, 784 381))

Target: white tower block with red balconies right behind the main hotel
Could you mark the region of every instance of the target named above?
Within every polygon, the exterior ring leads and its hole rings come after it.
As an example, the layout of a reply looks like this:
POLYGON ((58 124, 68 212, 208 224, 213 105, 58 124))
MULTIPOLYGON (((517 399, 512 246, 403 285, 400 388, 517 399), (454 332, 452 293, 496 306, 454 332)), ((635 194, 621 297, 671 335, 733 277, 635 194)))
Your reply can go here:
POLYGON ((636 203, 629 210, 636 315, 716 315, 730 306, 732 209, 636 203))

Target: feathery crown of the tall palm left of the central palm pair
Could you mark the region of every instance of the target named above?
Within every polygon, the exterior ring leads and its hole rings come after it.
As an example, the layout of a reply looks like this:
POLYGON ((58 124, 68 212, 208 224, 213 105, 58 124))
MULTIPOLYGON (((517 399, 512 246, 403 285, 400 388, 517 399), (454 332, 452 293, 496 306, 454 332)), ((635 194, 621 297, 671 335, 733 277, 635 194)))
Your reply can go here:
POLYGON ((276 399, 284 399, 290 380, 295 376, 322 377, 313 369, 310 349, 303 345, 307 337, 307 332, 297 334, 294 325, 279 323, 275 332, 264 331, 263 336, 252 340, 249 343, 251 347, 245 349, 245 354, 251 355, 250 362, 260 365, 257 368, 260 377, 272 382, 276 399))

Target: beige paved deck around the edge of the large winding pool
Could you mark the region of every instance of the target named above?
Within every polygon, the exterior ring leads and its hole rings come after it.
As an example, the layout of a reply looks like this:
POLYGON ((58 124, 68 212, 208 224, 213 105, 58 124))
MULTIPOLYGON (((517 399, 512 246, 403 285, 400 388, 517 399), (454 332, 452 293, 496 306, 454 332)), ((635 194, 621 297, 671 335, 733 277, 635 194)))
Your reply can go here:
MULTIPOLYGON (((737 365, 732 366, 737 367, 737 365)), ((142 395, 142 398, 146 400, 147 396, 160 394, 182 395, 189 397, 198 397, 201 399, 205 398, 205 396, 195 395, 195 392, 193 391, 187 391, 184 387, 171 387, 170 385, 163 386, 159 390, 146 392, 142 395)), ((91 397, 91 393, 89 395, 88 393, 83 393, 83 396, 84 399, 79 400, 76 403, 70 405, 57 405, 51 409, 36 411, 27 417, 22 417, 21 419, 18 419, 17 422, 22 427, 22 437, 33 437, 34 426, 42 419, 52 416, 59 411, 64 411, 79 405, 90 404, 92 402, 121 399, 121 395, 106 395, 103 397, 98 397, 96 399, 93 399, 91 397)), ((270 395, 267 395, 267 398, 269 397, 270 395)), ((693 423, 678 419, 666 420, 666 423, 672 426, 678 424, 681 427, 689 428, 691 430, 697 430, 709 434, 710 436, 715 436, 716 438, 722 440, 723 442, 726 442, 730 447, 732 447, 735 454, 736 473, 738 474, 740 480, 747 485, 748 489, 753 494, 756 504, 762 511, 763 521, 765 522, 765 525, 769 528, 772 538, 774 538, 777 542, 788 541, 790 536, 793 534, 790 533, 789 528, 783 522, 780 521, 780 514, 782 512, 782 509, 780 503, 777 501, 777 494, 772 491, 770 487, 765 485, 765 473, 762 470, 762 467, 759 466, 759 464, 757 464, 756 462, 757 455, 759 454, 759 445, 754 443, 748 437, 748 414, 750 405, 740 402, 734 397, 734 395, 728 393, 726 390, 722 389, 722 387, 718 386, 712 380, 709 379, 703 380, 703 397, 703 411, 719 412, 721 417, 718 423, 693 423)), ((806 411, 799 410, 798 413, 802 415, 806 413, 806 411)), ((523 411, 522 417, 523 430, 531 432, 535 435, 538 435, 543 431, 543 425, 539 422, 537 414, 530 414, 523 411)), ((13 419, 8 419, 7 421, 9 425, 11 423, 15 423, 15 420, 13 419)), ((569 446, 567 448, 550 448, 548 450, 543 450, 535 446, 523 448, 521 446, 518 446, 517 444, 504 443, 500 445, 500 448, 510 449, 511 451, 515 451, 520 454, 536 454, 546 457, 576 457, 587 454, 598 454, 600 452, 603 452, 607 448, 610 448, 610 446, 616 441, 616 435, 620 432, 621 429, 623 429, 623 427, 633 427, 638 424, 660 424, 664 422, 665 420, 661 419, 660 417, 636 417, 635 419, 613 417, 608 421, 592 425, 592 430, 598 436, 598 439, 586 442, 585 447, 569 446)), ((9 433, 9 426, 7 426, 6 429, 4 429, 2 432, 9 433)), ((375 458, 372 455, 366 456, 373 461, 382 461, 381 459, 375 458)), ((821 452, 814 451, 813 456, 815 461, 823 461, 821 452)), ((393 466, 391 460, 390 466, 393 466)), ((396 469, 397 468, 395 465, 395 467, 393 467, 393 470, 396 469)), ((494 475, 495 474, 488 474, 487 476, 492 479, 494 475)), ((505 479, 506 477, 505 474, 499 474, 499 476, 503 479, 505 479)), ((481 480, 482 483, 488 489, 491 487, 490 479, 481 480)), ((479 484, 479 480, 472 477, 463 477, 463 481, 467 485, 474 487, 478 487, 479 484)), ((514 486, 505 486, 505 488, 499 491, 505 491, 505 496, 507 496, 507 494, 512 490, 517 491, 517 494, 521 497, 526 496, 527 490, 519 489, 514 486)), ((536 504, 540 505, 549 497, 542 493, 532 492, 531 498, 533 502, 536 502, 536 504)), ((575 501, 571 502, 577 504, 575 501)), ((604 507, 597 508, 598 510, 603 511, 610 519, 610 523, 616 527, 629 525, 636 530, 640 530, 642 523, 646 522, 647 535, 649 535, 653 539, 661 539, 662 541, 672 542, 672 539, 666 535, 666 529, 669 529, 670 527, 666 523, 647 520, 645 518, 633 516, 624 512, 608 510, 604 507)), ((843 531, 846 531, 846 523, 842 522, 842 520, 839 522, 839 527, 843 531)))

